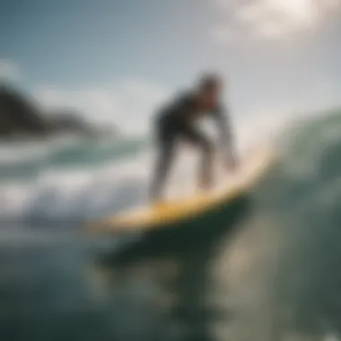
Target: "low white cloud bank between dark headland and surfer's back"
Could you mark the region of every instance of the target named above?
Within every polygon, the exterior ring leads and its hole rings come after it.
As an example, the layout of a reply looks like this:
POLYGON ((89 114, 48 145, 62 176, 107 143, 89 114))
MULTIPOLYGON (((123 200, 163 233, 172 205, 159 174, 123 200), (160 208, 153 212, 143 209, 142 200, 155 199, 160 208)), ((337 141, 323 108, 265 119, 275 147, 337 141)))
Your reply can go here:
POLYGON ((44 109, 74 109, 92 121, 114 122, 126 131, 142 131, 167 94, 160 85, 126 80, 72 90, 43 86, 36 90, 35 97, 44 109))

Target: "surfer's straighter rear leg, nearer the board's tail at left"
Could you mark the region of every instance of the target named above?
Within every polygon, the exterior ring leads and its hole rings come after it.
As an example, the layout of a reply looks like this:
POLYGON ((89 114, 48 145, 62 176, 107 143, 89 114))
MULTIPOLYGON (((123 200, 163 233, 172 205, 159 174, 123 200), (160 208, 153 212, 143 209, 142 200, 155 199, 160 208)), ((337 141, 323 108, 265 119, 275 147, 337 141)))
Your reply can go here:
POLYGON ((173 160, 174 137, 170 127, 157 127, 156 144, 158 151, 150 188, 150 198, 152 201, 157 201, 162 197, 162 189, 170 172, 173 160))

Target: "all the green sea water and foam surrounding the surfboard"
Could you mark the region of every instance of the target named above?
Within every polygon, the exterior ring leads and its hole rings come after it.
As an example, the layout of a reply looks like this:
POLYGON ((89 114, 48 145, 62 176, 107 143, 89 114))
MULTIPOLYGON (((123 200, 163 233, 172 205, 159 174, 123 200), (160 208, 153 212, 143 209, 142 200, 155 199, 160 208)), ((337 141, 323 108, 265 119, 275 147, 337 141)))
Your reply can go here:
POLYGON ((294 125, 266 179, 189 230, 103 239, 78 223, 144 200, 147 145, 8 147, 0 339, 340 339, 340 132, 337 111, 294 125))

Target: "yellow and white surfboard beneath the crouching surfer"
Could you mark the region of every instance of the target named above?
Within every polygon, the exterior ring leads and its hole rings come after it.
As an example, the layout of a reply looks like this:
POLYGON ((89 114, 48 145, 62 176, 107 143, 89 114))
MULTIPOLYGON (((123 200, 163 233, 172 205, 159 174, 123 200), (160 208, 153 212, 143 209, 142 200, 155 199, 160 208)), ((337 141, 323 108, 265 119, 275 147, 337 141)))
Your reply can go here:
POLYGON ((216 205, 228 204, 249 190, 266 174, 275 159, 274 153, 265 148, 247 155, 235 174, 219 181, 213 190, 200 192, 191 197, 168 200, 155 205, 129 209, 87 224, 90 233, 143 232, 162 228, 171 223, 181 223, 192 216, 200 216, 216 205))

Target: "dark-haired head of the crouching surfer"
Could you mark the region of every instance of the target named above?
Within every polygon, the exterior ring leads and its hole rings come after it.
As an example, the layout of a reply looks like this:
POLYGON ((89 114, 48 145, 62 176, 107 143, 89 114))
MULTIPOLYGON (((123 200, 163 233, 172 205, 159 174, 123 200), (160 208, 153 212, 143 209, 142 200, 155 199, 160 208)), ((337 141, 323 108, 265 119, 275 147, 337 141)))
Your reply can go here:
POLYGON ((223 90, 223 80, 218 74, 204 74, 197 84, 199 100, 208 108, 219 101, 223 90))

